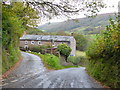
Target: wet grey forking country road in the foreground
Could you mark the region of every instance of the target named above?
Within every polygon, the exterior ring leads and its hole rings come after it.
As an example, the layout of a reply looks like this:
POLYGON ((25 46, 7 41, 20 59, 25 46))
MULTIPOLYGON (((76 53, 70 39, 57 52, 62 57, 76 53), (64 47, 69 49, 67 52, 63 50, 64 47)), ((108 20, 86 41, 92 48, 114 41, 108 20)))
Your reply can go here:
POLYGON ((3 81, 3 88, 102 88, 84 67, 47 71, 38 56, 22 55, 22 63, 3 81))

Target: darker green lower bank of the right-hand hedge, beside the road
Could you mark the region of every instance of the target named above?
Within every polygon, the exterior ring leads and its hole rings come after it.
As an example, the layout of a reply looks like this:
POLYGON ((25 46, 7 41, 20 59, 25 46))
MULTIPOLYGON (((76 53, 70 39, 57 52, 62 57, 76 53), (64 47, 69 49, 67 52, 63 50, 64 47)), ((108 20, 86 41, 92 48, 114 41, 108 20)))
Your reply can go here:
POLYGON ((104 85, 111 88, 120 88, 119 69, 117 65, 113 65, 112 63, 112 60, 89 60, 87 71, 92 77, 104 85))

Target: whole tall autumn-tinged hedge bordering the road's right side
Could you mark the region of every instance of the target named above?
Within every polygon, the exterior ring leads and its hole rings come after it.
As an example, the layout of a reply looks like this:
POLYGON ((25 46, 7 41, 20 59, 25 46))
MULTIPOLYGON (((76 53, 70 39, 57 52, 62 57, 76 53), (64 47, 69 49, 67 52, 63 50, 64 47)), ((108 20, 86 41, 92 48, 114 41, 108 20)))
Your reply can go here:
POLYGON ((87 71, 111 88, 120 88, 120 28, 110 19, 110 25, 89 45, 87 71))

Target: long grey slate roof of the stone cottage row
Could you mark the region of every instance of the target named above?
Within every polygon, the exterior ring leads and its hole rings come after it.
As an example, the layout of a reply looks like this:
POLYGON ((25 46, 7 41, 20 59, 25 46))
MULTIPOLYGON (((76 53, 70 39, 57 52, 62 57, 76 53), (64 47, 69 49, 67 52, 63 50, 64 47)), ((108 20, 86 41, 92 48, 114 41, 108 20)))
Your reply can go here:
POLYGON ((54 41, 70 41, 73 36, 59 35, 24 35, 20 40, 54 40, 54 41))

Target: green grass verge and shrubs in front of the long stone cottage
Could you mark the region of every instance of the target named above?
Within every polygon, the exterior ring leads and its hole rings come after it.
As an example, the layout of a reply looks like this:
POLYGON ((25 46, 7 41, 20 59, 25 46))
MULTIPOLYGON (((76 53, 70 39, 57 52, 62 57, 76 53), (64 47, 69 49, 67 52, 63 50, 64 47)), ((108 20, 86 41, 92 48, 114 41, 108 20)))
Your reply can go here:
POLYGON ((48 47, 49 46, 46 47, 34 46, 33 49, 30 49, 31 51, 27 51, 27 52, 38 55, 48 69, 58 70, 58 69, 64 69, 70 67, 78 67, 76 65, 73 65, 72 62, 68 65, 62 65, 62 63, 69 63, 67 62, 68 56, 70 55, 71 52, 71 48, 69 46, 67 46, 66 44, 60 44, 58 45, 58 48, 55 51, 55 53, 51 53, 51 51, 46 52, 46 49, 48 47))

